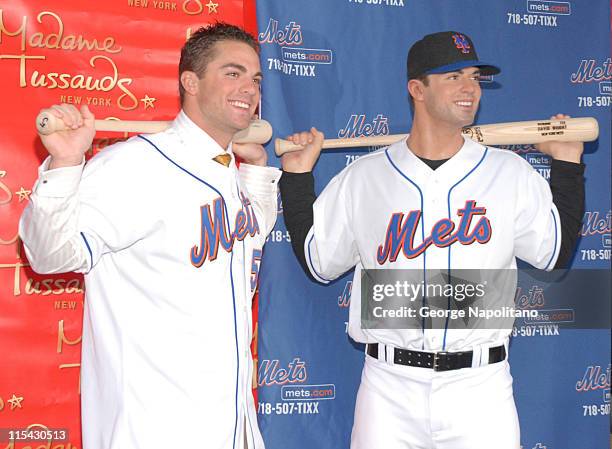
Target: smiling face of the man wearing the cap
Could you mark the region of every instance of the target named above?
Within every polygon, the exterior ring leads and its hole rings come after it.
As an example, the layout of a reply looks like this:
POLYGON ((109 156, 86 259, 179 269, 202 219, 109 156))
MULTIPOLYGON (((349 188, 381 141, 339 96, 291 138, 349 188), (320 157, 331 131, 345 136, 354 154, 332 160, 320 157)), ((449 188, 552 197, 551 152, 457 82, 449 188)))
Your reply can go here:
POLYGON ((477 67, 467 67, 428 75, 427 83, 411 80, 420 83, 416 95, 413 93, 417 113, 439 127, 460 129, 471 125, 480 104, 479 75, 477 67))

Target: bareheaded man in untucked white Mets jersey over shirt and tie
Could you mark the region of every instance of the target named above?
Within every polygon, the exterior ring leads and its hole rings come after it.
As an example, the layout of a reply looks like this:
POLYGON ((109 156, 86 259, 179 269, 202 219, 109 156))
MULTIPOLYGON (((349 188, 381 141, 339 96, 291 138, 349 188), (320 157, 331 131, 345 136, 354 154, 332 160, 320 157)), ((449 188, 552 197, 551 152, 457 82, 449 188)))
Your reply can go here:
POLYGON ((201 28, 181 51, 172 126, 85 165, 92 113, 50 108, 70 129, 41 136, 20 235, 35 271, 85 273, 85 449, 264 447, 251 304, 280 170, 231 143, 259 103, 258 52, 238 27, 201 28))

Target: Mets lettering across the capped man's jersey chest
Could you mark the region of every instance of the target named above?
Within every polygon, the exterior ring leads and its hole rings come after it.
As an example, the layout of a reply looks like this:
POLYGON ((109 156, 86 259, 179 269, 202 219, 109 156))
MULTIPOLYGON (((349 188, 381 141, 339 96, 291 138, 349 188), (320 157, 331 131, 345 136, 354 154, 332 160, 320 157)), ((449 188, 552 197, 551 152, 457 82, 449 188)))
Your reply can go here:
POLYGON ((378 247, 376 252, 376 260, 380 265, 387 260, 395 262, 400 251, 407 259, 414 259, 423 254, 431 245, 446 248, 456 242, 462 245, 471 245, 474 242, 487 243, 491 239, 492 230, 491 223, 484 216, 486 213, 486 208, 476 207, 476 201, 466 201, 465 206, 457 211, 457 216, 461 217, 458 226, 450 218, 439 220, 433 225, 429 236, 416 246, 414 237, 422 212, 413 210, 406 216, 403 212, 394 213, 387 226, 385 242, 378 247), (472 220, 477 216, 481 217, 474 228, 470 229, 472 220))

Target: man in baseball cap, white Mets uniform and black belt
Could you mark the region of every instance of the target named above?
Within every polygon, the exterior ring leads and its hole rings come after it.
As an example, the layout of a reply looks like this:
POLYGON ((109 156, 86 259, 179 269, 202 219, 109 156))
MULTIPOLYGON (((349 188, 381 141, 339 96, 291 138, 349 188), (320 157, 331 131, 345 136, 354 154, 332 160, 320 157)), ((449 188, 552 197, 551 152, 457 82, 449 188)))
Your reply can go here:
POLYGON ((367 345, 351 448, 518 449, 509 330, 363 329, 360 273, 514 269, 517 257, 564 266, 584 209, 583 145, 539 146, 554 159, 549 187, 520 156, 464 138, 479 76, 500 72, 478 59, 465 34, 425 36, 407 69, 407 140, 359 158, 316 200, 311 171, 323 135, 312 128, 290 136, 304 148, 282 159, 285 222, 302 266, 323 283, 355 267, 349 334, 367 345))

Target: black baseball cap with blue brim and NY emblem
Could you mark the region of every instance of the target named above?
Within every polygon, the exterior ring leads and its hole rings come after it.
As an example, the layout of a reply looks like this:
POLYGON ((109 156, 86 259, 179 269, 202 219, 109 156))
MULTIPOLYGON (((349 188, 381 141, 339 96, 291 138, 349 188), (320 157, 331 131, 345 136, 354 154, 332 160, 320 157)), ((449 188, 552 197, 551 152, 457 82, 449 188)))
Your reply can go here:
POLYGON ((472 39, 458 31, 428 34, 414 43, 406 61, 408 79, 478 67, 482 75, 497 75, 499 67, 480 61, 472 39))

